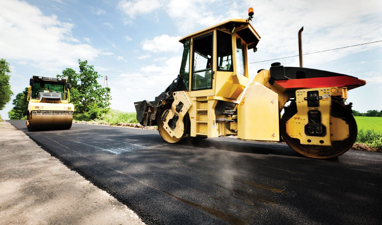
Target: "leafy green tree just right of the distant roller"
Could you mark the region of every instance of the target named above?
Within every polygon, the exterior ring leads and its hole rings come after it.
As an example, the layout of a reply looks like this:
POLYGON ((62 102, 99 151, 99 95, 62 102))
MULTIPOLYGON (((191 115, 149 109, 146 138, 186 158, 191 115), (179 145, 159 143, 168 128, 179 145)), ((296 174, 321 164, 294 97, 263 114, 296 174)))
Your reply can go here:
MULTIPOLYGON (((71 68, 62 71, 62 75, 57 77, 68 77, 71 83, 70 101, 74 104, 74 113, 83 114, 88 119, 95 119, 108 110, 110 88, 102 88, 97 82, 101 77, 94 66, 87 64, 87 60, 78 59, 79 72, 71 68)), ((81 117, 83 118, 83 117, 81 117)))

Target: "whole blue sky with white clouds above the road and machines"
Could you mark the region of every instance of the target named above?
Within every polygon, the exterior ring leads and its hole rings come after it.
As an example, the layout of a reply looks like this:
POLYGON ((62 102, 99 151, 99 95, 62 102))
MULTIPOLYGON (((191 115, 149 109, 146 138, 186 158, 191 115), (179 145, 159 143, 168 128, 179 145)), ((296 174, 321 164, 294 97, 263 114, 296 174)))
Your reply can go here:
MULTIPOLYGON (((154 100, 175 79, 181 37, 247 18, 249 7, 261 36, 249 63, 298 55, 301 26, 304 53, 382 40, 379 0, 1 0, 0 58, 11 64, 15 95, 32 75, 55 76, 67 67, 78 71, 78 59, 88 60, 110 77, 111 107, 132 112, 134 101, 154 100), (134 78, 161 74, 172 75, 134 78)), ((299 66, 298 57, 275 61, 299 66)), ((275 61, 249 64, 250 79, 275 61)), ((348 93, 348 102, 361 112, 382 110, 381 65, 382 42, 304 56, 304 67, 365 79, 364 87, 348 93)), ((1 116, 6 119, 12 107, 8 103, 1 116)))

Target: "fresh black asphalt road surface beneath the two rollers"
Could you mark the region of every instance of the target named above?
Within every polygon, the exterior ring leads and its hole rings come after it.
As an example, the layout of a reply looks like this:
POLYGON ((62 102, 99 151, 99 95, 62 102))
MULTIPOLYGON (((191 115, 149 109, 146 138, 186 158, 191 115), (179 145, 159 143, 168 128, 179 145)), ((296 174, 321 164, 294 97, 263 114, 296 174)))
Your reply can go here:
POLYGON ((168 144, 152 130, 9 122, 147 224, 381 224, 381 153, 317 160, 283 143, 168 144))

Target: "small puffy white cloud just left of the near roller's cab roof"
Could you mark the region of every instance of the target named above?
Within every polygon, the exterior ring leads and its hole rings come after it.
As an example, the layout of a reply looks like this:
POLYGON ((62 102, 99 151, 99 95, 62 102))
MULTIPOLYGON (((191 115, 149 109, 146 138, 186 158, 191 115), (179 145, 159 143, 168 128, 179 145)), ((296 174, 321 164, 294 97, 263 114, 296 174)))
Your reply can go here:
POLYGON ((179 42, 181 37, 170 37, 167 34, 154 37, 152 40, 143 40, 141 42, 142 49, 151 51, 151 52, 161 52, 161 51, 170 51, 170 52, 179 52, 183 46, 179 42))

